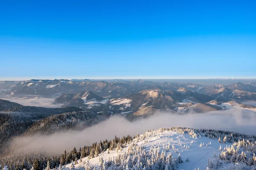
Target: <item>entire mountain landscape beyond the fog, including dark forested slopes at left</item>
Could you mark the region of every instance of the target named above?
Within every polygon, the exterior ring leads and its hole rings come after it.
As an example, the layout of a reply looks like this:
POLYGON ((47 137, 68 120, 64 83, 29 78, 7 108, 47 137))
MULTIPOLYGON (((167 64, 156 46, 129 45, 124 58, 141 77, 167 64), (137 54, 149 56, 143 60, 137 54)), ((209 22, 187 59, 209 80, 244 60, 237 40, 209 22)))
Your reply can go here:
MULTIPOLYGON (((253 82, 198 85, 121 79, 32 79, 0 82, 0 95, 10 99, 0 99, 0 155, 8 164, 17 163, 20 159, 12 154, 14 148, 8 146, 9 141, 17 136, 51 135, 68 130, 83 130, 113 115, 134 121, 159 112, 180 115, 229 109, 256 112, 256 106, 244 104, 248 100, 256 101, 256 86, 253 82), (62 108, 20 105, 11 102, 13 98, 53 98, 52 104, 61 104, 62 108), (9 161, 10 158, 13 162, 9 161)), ((201 140, 201 137, 198 138, 201 140)), ((29 153, 23 157, 23 161, 34 161, 33 154, 29 153)))

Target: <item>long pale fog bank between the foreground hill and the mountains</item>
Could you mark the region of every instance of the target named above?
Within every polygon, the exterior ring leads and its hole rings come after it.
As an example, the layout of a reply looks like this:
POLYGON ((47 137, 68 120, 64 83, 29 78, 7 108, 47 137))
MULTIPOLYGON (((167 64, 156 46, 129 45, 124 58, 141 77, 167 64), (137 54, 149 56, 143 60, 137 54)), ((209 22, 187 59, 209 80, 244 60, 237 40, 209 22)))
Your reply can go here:
POLYGON ((64 150, 71 150, 74 146, 83 147, 100 140, 111 140, 126 135, 134 136, 148 129, 161 127, 192 127, 215 130, 230 130, 245 134, 256 135, 256 114, 253 111, 230 109, 226 111, 212 111, 209 113, 188 113, 186 115, 172 113, 155 113, 148 119, 130 122, 121 116, 112 116, 82 131, 68 131, 55 133, 50 136, 18 137, 12 141, 18 151, 47 151, 58 155, 64 150))

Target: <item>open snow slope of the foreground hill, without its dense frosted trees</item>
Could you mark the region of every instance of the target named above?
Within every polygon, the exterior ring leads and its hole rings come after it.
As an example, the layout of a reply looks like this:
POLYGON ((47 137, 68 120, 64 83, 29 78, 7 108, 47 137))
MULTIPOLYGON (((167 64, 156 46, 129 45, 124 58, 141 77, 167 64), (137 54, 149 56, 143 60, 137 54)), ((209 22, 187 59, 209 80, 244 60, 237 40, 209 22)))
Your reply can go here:
MULTIPOLYGON (((195 136, 194 136, 195 137, 195 136)), ((104 153, 99 154, 99 156, 88 159, 85 157, 81 160, 78 160, 78 164, 74 165, 76 169, 84 170, 86 166, 88 166, 88 162, 91 166, 99 169, 100 167, 100 159, 104 161, 113 160, 114 158, 121 157, 125 161, 125 156, 129 153, 134 144, 141 146, 143 150, 148 154, 156 153, 155 156, 159 153, 159 157, 161 157, 161 153, 163 152, 166 157, 168 157, 171 153, 173 158, 180 157, 183 163, 177 163, 179 170, 194 170, 195 168, 200 170, 205 170, 207 168, 207 161, 209 158, 212 158, 214 152, 215 155, 218 156, 218 148, 220 144, 216 139, 209 139, 208 137, 195 137, 193 138, 191 135, 187 133, 177 133, 175 131, 163 131, 157 130, 152 132, 146 132, 141 135, 140 139, 134 139, 134 141, 129 144, 127 147, 122 150, 111 150, 105 151, 104 153), (159 151, 159 152, 158 152, 159 151), (188 161, 186 161, 188 159, 188 161)), ((225 144, 226 145, 226 144, 225 144)), ((225 147, 224 145, 222 146, 225 147)), ((142 153, 143 151, 141 151, 142 153)), ((163 156, 162 153, 162 156, 163 156)), ((152 154, 154 155, 154 154, 152 154)), ((142 156, 139 156, 140 159, 143 159, 142 156)), ((152 159, 152 158, 151 158, 152 159)), ((142 160, 141 160, 142 161, 142 160)), ((147 160, 146 160, 147 161, 147 160)), ((75 162, 73 163, 75 164, 75 162)), ((151 162, 154 164, 154 162, 151 162)), ((67 164, 63 167, 71 168, 72 163, 67 164)), ((143 167, 142 167, 143 168, 143 167)))

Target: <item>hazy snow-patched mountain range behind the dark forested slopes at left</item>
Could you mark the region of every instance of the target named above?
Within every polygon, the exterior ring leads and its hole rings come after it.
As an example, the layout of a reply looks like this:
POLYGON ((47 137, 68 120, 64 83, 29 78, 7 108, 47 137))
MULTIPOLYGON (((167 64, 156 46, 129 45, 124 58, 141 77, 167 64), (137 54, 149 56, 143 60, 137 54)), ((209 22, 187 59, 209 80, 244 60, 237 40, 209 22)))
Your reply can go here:
MULTIPOLYGON (((187 82, 153 82, 141 79, 99 81, 31 79, 22 82, 1 82, 0 94, 10 99, 24 96, 53 97, 55 98, 53 104, 75 106, 84 111, 108 116, 113 114, 139 116, 150 115, 156 111, 203 113, 227 109, 229 107, 222 105, 227 105, 230 101, 235 101, 240 105, 246 101, 256 101, 254 82, 244 81, 244 83, 198 85, 187 82), (2 84, 4 86, 1 86, 2 84)), ((246 106, 246 108, 250 107, 246 106)))

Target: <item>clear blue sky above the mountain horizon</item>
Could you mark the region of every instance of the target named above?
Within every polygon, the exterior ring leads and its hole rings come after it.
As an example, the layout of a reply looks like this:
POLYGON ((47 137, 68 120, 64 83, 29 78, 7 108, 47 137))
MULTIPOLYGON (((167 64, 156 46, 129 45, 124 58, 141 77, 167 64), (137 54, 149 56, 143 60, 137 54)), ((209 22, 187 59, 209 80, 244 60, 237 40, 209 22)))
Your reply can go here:
POLYGON ((1 0, 0 79, 255 78, 255 0, 1 0))

